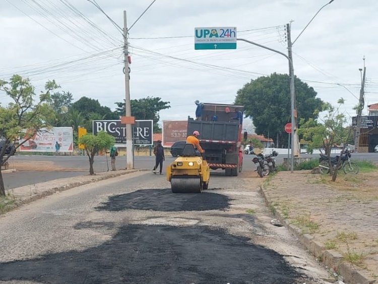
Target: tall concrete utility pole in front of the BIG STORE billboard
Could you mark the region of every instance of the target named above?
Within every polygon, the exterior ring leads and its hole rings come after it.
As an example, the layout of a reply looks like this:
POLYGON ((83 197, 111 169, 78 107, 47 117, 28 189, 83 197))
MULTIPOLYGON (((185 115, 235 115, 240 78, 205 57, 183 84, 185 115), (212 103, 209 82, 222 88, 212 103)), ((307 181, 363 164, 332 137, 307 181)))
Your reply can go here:
MULTIPOLYGON (((123 55, 124 55, 124 90, 125 90, 125 116, 131 117, 130 102, 130 74, 129 74, 129 42, 128 42, 128 23, 126 11, 123 11, 123 55)), ((126 168, 134 168, 134 152, 133 152, 133 128, 132 124, 126 124, 126 168)))

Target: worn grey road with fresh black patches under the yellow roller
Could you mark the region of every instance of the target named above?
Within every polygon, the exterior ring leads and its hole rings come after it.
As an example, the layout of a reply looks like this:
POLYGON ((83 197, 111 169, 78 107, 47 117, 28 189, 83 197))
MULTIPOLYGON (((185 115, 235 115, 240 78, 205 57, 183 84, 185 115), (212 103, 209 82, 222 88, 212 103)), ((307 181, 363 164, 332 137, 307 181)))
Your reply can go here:
POLYGON ((324 283, 270 224, 261 181, 214 174, 202 194, 172 194, 138 172, 37 200, 0 219, 0 282, 324 283))

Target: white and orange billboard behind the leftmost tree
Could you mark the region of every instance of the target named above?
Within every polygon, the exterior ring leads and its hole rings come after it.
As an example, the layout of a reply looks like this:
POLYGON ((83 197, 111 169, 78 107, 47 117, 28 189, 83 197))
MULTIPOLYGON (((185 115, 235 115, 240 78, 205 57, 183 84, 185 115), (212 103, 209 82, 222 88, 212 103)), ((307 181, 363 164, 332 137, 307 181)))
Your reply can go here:
MULTIPOLYGON (((20 139, 20 143, 26 137, 20 139)), ((20 146, 22 152, 55 152, 55 143, 58 142, 60 152, 72 152, 74 150, 74 136, 72 127, 41 128, 28 141, 20 146)))

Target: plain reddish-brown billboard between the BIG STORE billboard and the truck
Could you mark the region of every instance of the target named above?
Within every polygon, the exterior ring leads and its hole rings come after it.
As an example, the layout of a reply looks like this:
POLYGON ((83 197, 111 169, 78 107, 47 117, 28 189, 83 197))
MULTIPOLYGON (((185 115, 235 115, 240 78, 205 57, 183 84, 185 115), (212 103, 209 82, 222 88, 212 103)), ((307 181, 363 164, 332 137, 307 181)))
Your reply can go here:
POLYGON ((163 121, 163 146, 170 147, 174 142, 186 140, 187 120, 163 121))

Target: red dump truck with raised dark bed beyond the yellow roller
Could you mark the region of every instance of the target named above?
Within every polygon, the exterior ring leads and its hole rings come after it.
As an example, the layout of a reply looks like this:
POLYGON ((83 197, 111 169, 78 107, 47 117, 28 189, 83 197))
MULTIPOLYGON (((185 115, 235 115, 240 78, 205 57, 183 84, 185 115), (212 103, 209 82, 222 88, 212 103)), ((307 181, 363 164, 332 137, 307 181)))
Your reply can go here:
POLYGON ((187 135, 200 132, 200 144, 211 169, 224 169, 226 176, 237 176, 243 166, 241 146, 242 126, 235 108, 244 111, 243 105, 203 103, 200 120, 188 118, 187 135))

